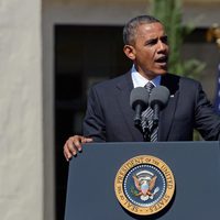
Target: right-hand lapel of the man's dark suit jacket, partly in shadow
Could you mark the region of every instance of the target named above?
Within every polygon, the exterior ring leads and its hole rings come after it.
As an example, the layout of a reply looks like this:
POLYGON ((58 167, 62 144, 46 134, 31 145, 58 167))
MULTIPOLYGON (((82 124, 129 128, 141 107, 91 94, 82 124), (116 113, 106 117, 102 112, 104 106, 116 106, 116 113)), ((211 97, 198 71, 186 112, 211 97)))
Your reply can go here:
POLYGON ((168 141, 179 95, 179 77, 166 74, 162 77, 161 85, 169 89, 170 97, 166 108, 164 108, 160 114, 158 141, 168 141))

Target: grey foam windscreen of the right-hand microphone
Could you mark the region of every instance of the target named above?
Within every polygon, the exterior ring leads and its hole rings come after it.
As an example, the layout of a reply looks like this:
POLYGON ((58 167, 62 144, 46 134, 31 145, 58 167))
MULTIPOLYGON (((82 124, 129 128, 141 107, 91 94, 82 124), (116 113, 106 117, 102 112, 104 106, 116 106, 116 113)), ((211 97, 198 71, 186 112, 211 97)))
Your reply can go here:
POLYGON ((169 99, 169 90, 165 86, 157 86, 152 89, 148 102, 153 107, 158 103, 161 107, 165 107, 169 99))

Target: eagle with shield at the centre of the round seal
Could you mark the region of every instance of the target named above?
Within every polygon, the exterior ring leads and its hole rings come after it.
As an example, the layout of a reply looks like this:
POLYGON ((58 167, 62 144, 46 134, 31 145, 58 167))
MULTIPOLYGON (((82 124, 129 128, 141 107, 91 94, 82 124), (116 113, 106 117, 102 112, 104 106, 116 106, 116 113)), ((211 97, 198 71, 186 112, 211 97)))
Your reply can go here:
POLYGON ((154 196, 160 191, 158 187, 155 187, 157 176, 148 170, 141 170, 133 176, 134 187, 131 193, 140 197, 141 200, 146 201, 153 199, 154 196))

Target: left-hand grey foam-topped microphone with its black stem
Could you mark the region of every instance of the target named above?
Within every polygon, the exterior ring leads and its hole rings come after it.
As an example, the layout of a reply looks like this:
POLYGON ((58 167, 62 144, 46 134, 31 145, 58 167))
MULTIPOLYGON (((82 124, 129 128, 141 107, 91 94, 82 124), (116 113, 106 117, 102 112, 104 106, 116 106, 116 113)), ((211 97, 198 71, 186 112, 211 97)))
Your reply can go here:
POLYGON ((143 87, 132 89, 130 95, 130 106, 135 111, 134 125, 141 124, 141 113, 148 106, 148 91, 143 87))

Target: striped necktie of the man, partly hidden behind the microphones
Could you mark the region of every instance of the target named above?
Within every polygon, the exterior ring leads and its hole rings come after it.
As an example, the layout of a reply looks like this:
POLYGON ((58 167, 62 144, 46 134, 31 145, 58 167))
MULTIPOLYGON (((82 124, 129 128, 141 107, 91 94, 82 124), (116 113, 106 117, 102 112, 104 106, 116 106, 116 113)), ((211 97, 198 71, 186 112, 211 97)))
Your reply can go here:
MULTIPOLYGON (((154 88, 154 85, 148 81, 144 88, 148 91, 151 96, 151 91, 154 88)), ((157 141, 157 131, 158 127, 153 127, 153 109, 147 107, 145 111, 142 112, 142 129, 144 132, 144 139, 146 141, 156 142, 157 141)))

